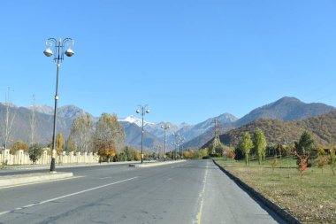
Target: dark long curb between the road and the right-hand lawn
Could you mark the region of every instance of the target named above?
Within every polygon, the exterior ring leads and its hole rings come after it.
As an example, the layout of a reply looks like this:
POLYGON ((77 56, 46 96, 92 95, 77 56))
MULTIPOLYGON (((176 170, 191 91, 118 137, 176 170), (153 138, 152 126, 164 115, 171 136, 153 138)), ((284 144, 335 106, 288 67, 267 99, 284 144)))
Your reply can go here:
POLYGON ((218 168, 221 171, 223 171, 223 173, 225 173, 228 177, 230 177, 233 180, 233 182, 237 183, 242 189, 248 191, 249 194, 251 194, 258 201, 263 203, 263 205, 271 209, 271 211, 277 213, 283 220, 286 220, 290 224, 302 224, 302 222, 297 218, 295 218, 294 215, 290 214, 289 212, 286 212, 279 205, 276 205, 275 203, 271 202, 271 200, 267 199, 266 197, 263 197, 263 195, 257 192, 256 189, 251 188, 250 186, 248 186, 248 184, 242 182, 241 179, 225 170, 225 168, 223 168, 222 166, 219 166, 214 159, 212 159, 212 161, 216 166, 218 166, 218 168))

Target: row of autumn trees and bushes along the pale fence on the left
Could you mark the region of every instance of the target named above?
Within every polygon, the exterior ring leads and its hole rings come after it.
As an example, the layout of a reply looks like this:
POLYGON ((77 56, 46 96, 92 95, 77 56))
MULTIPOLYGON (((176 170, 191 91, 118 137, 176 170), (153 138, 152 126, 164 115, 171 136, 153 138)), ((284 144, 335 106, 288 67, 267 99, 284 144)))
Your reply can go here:
MULTIPOLYGON (((116 114, 103 113, 94 127, 90 115, 83 113, 73 121, 71 133, 65 143, 62 133, 58 133, 55 150, 57 154, 62 154, 64 151, 80 152, 80 154, 95 152, 102 160, 110 161, 121 151, 124 142, 125 130, 119 124, 116 114)), ((27 143, 18 141, 11 145, 10 152, 15 154, 19 150, 25 151, 34 163, 41 158, 43 148, 41 143, 33 142, 28 146, 27 143)))

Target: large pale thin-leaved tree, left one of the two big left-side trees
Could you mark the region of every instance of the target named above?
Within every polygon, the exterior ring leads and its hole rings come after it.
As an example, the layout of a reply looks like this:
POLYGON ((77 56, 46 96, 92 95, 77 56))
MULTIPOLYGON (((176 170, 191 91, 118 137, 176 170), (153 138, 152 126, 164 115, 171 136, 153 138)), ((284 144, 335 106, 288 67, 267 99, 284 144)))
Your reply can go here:
POLYGON ((76 151, 88 152, 92 147, 93 121, 88 113, 81 114, 73 120, 69 140, 76 151))

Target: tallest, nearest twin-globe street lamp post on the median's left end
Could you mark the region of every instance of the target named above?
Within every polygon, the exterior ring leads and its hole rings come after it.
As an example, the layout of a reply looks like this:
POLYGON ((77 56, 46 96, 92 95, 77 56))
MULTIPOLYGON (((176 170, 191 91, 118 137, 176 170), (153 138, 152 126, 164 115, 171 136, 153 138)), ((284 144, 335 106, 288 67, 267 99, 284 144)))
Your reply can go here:
POLYGON ((56 145, 56 122, 57 122, 57 100, 58 100, 58 72, 61 63, 64 60, 64 55, 67 57, 72 57, 74 52, 72 50, 73 47, 73 39, 65 38, 63 41, 61 38, 57 41, 55 38, 49 38, 46 41, 47 49, 43 51, 44 55, 50 57, 53 55, 51 47, 54 47, 54 61, 57 66, 57 74, 56 74, 56 94, 55 94, 55 107, 54 107, 54 129, 52 132, 52 148, 51 148, 51 164, 50 164, 50 172, 55 171, 55 145, 56 145), (67 50, 65 50, 65 43, 67 43, 67 50))

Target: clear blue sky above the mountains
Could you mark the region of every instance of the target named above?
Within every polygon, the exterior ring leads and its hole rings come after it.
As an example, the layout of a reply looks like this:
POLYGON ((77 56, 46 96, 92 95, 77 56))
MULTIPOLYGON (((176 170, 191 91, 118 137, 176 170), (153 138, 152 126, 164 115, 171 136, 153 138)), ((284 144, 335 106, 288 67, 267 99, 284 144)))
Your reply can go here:
POLYGON ((1 1, 0 101, 53 105, 49 37, 72 37, 59 105, 195 124, 280 97, 336 106, 332 0, 1 1), (1 93, 2 92, 2 93, 1 93), (1 97, 4 96, 4 97, 1 97))

